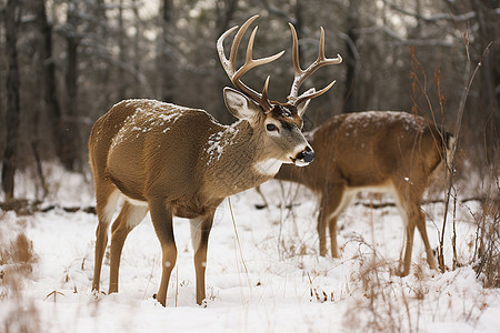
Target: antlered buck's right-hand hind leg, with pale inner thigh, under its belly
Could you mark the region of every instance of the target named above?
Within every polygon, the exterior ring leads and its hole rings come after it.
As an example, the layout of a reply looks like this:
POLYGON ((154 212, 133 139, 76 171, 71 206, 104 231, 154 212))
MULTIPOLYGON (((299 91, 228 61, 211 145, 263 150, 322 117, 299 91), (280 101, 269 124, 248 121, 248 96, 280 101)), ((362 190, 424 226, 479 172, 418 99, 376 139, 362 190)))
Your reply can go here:
POLYGON ((118 293, 120 258, 127 235, 133 228, 141 223, 147 213, 147 205, 133 205, 126 201, 121 208, 120 214, 111 226, 109 293, 118 293))

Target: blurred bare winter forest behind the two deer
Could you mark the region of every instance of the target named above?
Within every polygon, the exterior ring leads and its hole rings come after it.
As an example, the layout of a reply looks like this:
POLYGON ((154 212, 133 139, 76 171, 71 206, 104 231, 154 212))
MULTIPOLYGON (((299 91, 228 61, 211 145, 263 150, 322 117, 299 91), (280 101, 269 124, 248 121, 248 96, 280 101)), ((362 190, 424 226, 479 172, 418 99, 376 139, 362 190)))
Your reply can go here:
POLYGON ((498 0, 3 0, 0 152, 6 196, 14 196, 17 169, 32 171, 40 200, 50 192, 44 161, 88 173, 90 129, 122 99, 201 108, 232 122, 222 99, 230 82, 216 41, 253 13, 260 14, 254 57, 287 51, 272 67, 246 78, 260 90, 270 74, 271 99, 283 101, 293 79, 288 22, 298 30, 302 67, 316 59, 320 27, 327 56, 344 59, 309 80, 310 87, 332 79, 337 84, 312 102, 306 130, 361 110, 413 112, 451 131, 460 121, 462 167, 473 168, 480 179, 498 169, 498 0))

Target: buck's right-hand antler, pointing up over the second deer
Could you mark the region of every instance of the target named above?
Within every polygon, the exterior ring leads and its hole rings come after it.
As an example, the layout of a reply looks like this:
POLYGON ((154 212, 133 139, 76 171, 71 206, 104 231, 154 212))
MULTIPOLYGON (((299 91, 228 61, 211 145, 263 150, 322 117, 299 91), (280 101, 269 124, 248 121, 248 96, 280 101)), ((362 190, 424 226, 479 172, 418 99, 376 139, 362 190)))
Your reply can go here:
POLYGON ((323 30, 323 28, 321 28, 318 59, 313 63, 311 63, 306 70, 302 70, 300 68, 300 62, 299 62, 299 41, 297 39, 296 28, 293 28, 293 24, 291 24, 291 23, 288 23, 288 24, 290 26, 290 29, 292 32, 292 39, 293 39, 292 59, 293 59, 293 70, 296 72, 293 83, 292 83, 292 87, 290 90, 290 94, 288 95, 288 100, 290 102, 292 102, 294 105, 298 105, 303 100, 313 99, 313 98, 319 97, 320 94, 327 92, 336 83, 336 80, 333 80, 330 84, 328 84, 320 91, 312 90, 311 92, 304 92, 299 97, 299 88, 300 88, 300 85, 302 85, 303 81, 306 81, 307 78, 309 78, 320 67, 323 67, 327 64, 341 63, 342 57, 340 57, 340 54, 337 54, 337 58, 333 58, 333 59, 328 59, 324 57, 324 30, 323 30))

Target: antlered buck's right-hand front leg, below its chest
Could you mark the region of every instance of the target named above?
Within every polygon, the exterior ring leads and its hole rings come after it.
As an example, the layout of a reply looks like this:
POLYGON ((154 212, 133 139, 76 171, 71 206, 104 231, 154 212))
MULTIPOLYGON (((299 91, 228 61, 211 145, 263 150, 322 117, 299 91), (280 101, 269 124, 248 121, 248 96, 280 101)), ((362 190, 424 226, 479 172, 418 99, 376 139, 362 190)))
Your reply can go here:
POLYGON ((191 240, 194 249, 194 271, 197 274, 197 304, 206 299, 204 272, 207 269, 207 250, 213 214, 191 220, 191 240))

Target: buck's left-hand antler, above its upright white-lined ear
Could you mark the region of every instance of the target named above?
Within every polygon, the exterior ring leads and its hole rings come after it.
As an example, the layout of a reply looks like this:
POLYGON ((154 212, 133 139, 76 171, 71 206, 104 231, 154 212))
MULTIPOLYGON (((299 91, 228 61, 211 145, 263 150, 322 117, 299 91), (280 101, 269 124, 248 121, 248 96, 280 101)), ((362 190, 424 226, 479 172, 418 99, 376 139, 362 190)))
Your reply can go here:
POLYGON ((233 40, 232 47, 231 47, 231 53, 229 54, 229 60, 226 58, 223 42, 224 42, 226 37, 228 37, 232 31, 238 29, 238 26, 229 29, 228 31, 222 33, 221 37, 219 37, 219 39, 217 40, 217 50, 219 52, 219 59, 222 64, 222 68, 224 69, 226 73, 228 74, 232 84, 234 84, 234 87, 239 91, 243 92, 250 99, 252 99, 253 101, 259 103, 259 105, 261 105, 262 109, 266 112, 268 112, 272 109, 271 103, 268 100, 269 77, 266 79, 266 83, 262 89, 262 93, 258 93, 253 89, 249 88, 243 82, 241 82, 240 79, 244 73, 247 73, 252 68, 277 60, 284 53, 284 51, 281 51, 274 56, 262 58, 262 59, 252 59, 253 40, 256 38, 257 28, 258 28, 258 27, 256 27, 256 28, 253 28, 252 34, 250 36, 250 40, 248 42, 247 57, 244 60, 244 64, 238 71, 236 70, 237 53, 238 53, 238 48, 240 46, 241 39, 243 38, 244 32, 247 32, 248 27, 259 16, 253 16, 250 19, 248 19, 247 22, 244 22, 244 24, 241 26, 240 30, 234 36, 234 40, 233 40))

